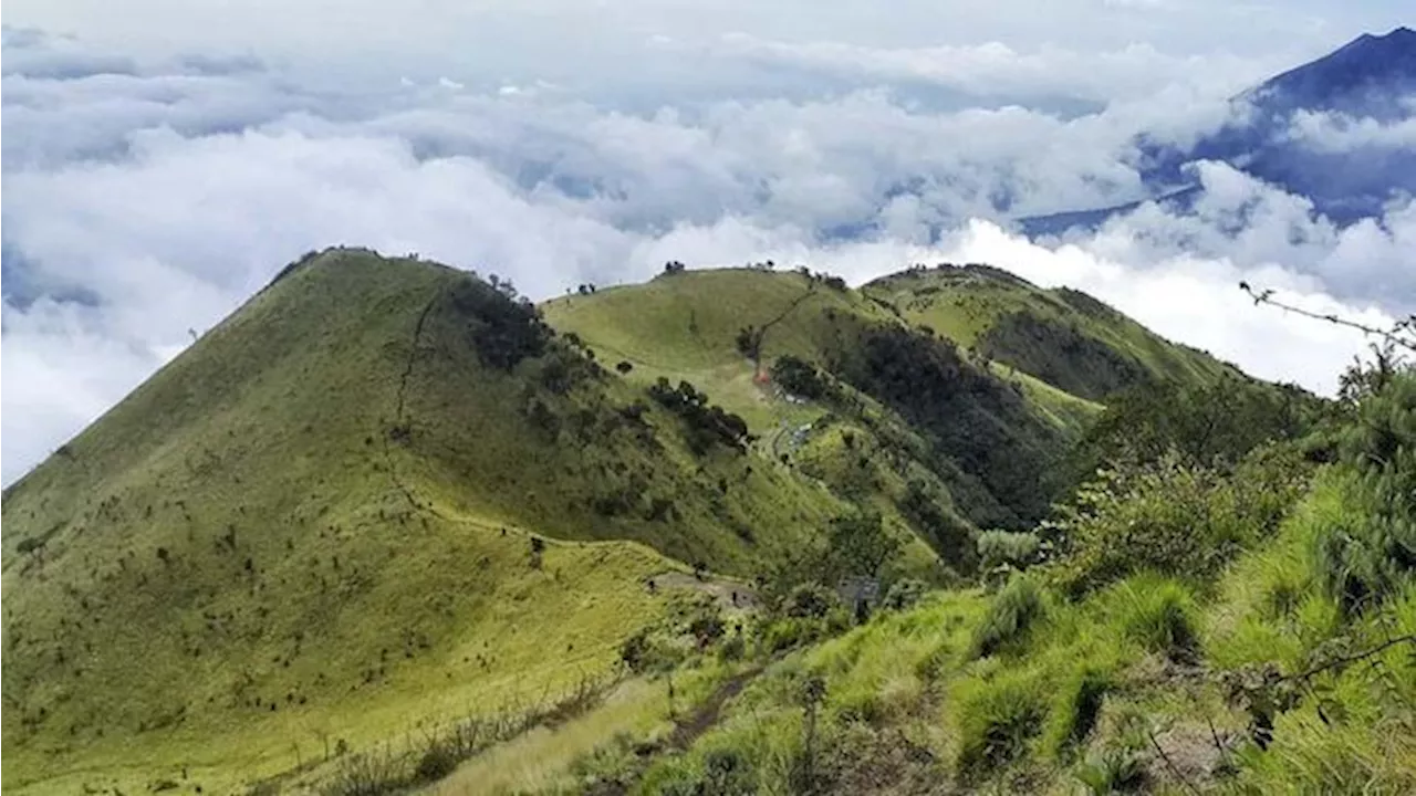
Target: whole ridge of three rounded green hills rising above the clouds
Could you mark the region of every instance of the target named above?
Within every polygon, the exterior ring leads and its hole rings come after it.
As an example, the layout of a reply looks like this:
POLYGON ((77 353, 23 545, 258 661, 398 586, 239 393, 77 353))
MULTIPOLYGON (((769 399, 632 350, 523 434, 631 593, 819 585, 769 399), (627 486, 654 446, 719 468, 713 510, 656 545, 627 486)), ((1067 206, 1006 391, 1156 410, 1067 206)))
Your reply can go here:
POLYGON ((891 582, 970 578, 1062 496, 1097 399, 1226 370, 960 273, 671 269, 535 307, 312 254, 0 496, 0 790, 327 788, 840 528, 893 540, 891 582))

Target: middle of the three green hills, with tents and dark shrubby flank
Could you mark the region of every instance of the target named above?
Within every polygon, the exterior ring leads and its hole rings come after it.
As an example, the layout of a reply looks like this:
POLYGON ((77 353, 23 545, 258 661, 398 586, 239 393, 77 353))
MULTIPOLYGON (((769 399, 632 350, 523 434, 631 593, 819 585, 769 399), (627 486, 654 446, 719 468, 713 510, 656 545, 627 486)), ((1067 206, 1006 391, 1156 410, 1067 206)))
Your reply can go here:
MULTIPOLYGON (((1003 282, 959 292, 990 297, 995 285, 1003 282)), ((954 562, 950 537, 1024 528, 1045 513, 1059 459, 1102 406, 1027 368, 959 350, 899 312, 892 302, 901 296, 882 295, 806 272, 680 271, 556 299, 544 312, 632 381, 702 387, 749 421, 773 459, 786 456, 847 500, 896 513, 954 562), (803 368, 784 365, 797 363, 816 368, 823 385, 792 378, 803 368)), ((960 327, 967 316, 936 320, 960 327)), ((1138 329, 1123 322, 1116 326, 1127 333, 1138 329)), ((1189 361, 1168 343, 1137 339, 1154 343, 1157 357, 1189 361)), ((1082 358, 1106 357, 1123 354, 1082 358)))

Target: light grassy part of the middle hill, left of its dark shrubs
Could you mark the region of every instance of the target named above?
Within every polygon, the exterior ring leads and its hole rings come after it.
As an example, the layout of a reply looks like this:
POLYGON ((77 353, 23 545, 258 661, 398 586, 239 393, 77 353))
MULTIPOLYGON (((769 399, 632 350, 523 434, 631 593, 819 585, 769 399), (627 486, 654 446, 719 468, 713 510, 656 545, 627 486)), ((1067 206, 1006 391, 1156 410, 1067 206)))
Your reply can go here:
MULTIPOLYGON (((889 499, 905 490, 899 473, 871 463, 861 473, 844 474, 844 479, 867 484, 860 491, 843 490, 843 477, 833 477, 847 457, 840 450, 838 433, 823 436, 820 432, 828 425, 851 429, 862 438, 869 432, 848 422, 843 425, 824 405, 793 404, 782 399, 770 385, 759 385, 753 363, 735 344, 745 326, 770 324, 762 344, 763 370, 784 354, 821 361, 833 348, 848 346, 847 331, 833 319, 895 322, 858 293, 833 290, 799 273, 692 271, 660 276, 646 285, 599 290, 593 296, 555 299, 542 305, 542 312, 555 329, 581 337, 606 367, 633 365, 626 381, 644 387, 658 378, 692 382, 714 402, 748 421, 753 433, 762 438, 756 448, 765 459, 776 462, 789 455, 799 465, 821 465, 801 472, 847 500, 884 510, 898 527, 908 527, 889 499), (807 428, 816 433, 800 435, 807 428), (823 448, 827 449, 824 455, 823 448)), ((874 401, 861 399, 874 415, 885 414, 874 401)), ((913 436, 908 429, 902 433, 913 436)), ((915 472, 927 476, 919 467, 915 472)), ((933 564, 933 555, 918 544, 910 545, 909 559, 908 567, 916 571, 933 564)))

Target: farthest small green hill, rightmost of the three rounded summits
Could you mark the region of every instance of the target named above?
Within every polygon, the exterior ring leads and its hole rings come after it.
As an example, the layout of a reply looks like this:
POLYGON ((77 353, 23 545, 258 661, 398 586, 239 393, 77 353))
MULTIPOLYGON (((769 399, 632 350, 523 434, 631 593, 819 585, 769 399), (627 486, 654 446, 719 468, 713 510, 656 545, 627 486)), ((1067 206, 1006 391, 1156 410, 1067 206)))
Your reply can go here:
POLYGON ((1044 290, 988 266, 913 269, 862 292, 909 323, 1089 401, 1148 380, 1195 384, 1239 375, 1086 293, 1044 290))

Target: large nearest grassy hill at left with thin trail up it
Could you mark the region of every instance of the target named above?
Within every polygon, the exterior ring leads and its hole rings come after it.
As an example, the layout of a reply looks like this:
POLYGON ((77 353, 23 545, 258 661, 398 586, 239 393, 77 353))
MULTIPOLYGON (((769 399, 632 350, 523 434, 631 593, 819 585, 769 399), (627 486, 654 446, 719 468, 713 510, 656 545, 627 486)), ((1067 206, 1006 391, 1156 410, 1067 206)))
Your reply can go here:
POLYGON ((661 610, 641 581, 678 565, 651 547, 741 568, 833 504, 770 467, 691 460, 661 412, 654 450, 538 435, 518 398, 603 418, 639 391, 548 395, 541 363, 481 367, 446 302, 466 279, 323 255, 6 494, 0 790, 130 792, 185 765, 221 792, 326 738, 539 694, 661 610), (681 523, 588 518, 579 501, 622 486, 609 462, 660 455, 646 493, 685 496, 681 523), (537 569, 527 531, 568 541, 537 569))

